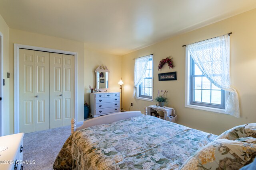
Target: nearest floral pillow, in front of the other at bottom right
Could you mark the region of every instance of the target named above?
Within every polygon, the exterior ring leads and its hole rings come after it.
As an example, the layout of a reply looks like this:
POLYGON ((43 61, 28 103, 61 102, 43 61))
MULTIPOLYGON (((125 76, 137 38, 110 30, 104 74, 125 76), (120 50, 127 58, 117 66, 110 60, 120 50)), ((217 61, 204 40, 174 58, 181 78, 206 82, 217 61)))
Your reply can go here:
POLYGON ((218 139, 190 156, 181 170, 238 170, 255 156, 254 143, 218 139))

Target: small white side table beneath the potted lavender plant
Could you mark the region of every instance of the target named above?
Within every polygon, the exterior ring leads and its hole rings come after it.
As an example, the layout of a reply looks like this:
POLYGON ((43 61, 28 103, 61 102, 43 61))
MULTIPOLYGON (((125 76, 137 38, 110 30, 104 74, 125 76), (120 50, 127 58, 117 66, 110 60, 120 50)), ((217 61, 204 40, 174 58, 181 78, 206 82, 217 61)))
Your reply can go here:
MULTIPOLYGON (((172 107, 159 107, 155 105, 151 105, 147 107, 147 115, 151 115, 152 110, 156 111, 163 111, 164 112, 164 120, 171 121, 171 122, 176 122, 177 120, 177 115, 175 114, 175 110, 172 107)), ((146 110, 145 110, 146 111, 146 110)))

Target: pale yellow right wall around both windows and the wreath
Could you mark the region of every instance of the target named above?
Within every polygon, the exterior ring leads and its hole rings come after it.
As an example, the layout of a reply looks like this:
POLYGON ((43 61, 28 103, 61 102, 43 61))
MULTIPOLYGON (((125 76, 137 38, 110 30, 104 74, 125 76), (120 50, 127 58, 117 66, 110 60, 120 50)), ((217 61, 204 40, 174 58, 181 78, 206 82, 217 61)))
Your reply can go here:
POLYGON ((174 107, 177 123, 216 135, 236 125, 256 122, 256 10, 228 18, 194 31, 167 39, 155 45, 129 53, 122 57, 124 85, 124 109, 144 111, 144 107, 155 104, 132 98, 133 58, 154 54, 154 97, 157 90, 168 90, 168 106, 174 107), (185 47, 182 45, 233 32, 230 37, 230 76, 232 86, 238 90, 240 118, 230 115, 186 108, 185 106, 185 47), (174 69, 164 65, 158 71, 159 61, 172 55, 174 69), (177 71, 176 81, 158 81, 158 73, 177 71))

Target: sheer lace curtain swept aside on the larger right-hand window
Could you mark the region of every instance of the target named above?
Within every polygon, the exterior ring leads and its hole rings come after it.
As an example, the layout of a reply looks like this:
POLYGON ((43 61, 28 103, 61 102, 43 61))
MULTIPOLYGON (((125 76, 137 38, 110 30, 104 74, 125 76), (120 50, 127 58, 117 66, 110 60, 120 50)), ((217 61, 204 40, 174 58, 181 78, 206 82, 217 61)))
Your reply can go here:
POLYGON ((230 92, 226 113, 240 117, 238 94, 230 83, 230 37, 222 35, 187 45, 188 51, 212 84, 230 92))

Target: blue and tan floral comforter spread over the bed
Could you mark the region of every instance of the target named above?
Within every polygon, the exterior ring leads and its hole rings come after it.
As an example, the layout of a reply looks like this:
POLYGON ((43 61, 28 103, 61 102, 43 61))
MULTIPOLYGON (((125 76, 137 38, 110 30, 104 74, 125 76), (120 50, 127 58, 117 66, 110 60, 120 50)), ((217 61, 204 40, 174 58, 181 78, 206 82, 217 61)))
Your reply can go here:
POLYGON ((217 136, 142 115, 76 131, 65 142, 54 169, 179 169, 217 136))

